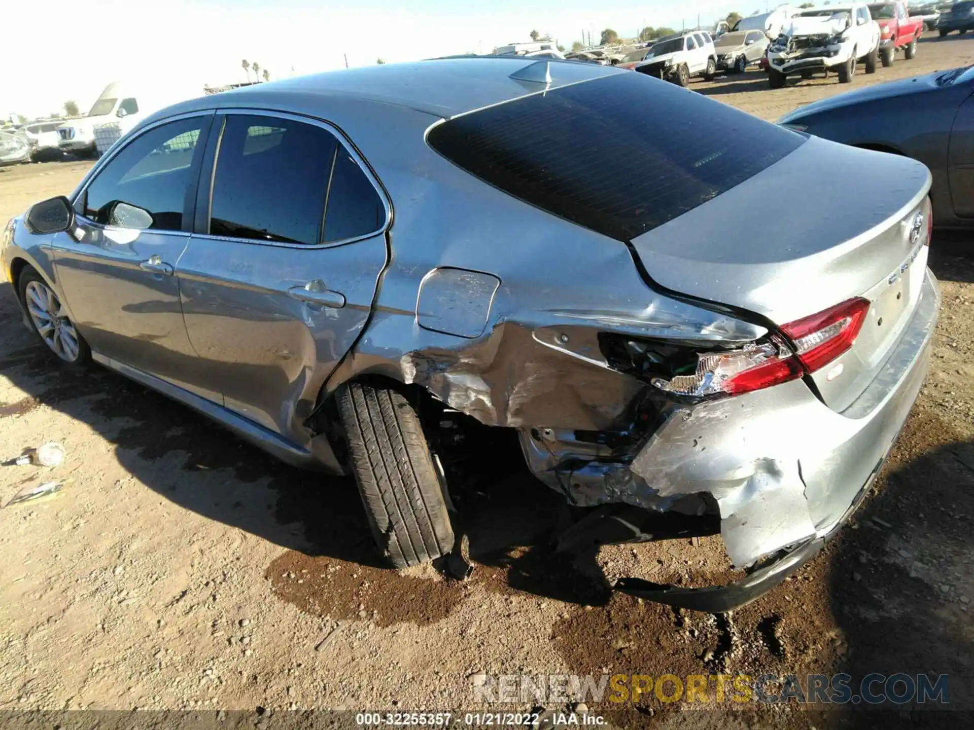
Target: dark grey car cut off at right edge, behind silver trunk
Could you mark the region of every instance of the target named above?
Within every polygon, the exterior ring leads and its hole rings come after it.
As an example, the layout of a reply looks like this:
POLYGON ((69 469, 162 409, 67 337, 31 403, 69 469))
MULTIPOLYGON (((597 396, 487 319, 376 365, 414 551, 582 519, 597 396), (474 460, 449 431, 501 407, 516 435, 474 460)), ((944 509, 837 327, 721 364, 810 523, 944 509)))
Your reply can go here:
POLYGON ((779 125, 865 149, 911 157, 933 175, 939 228, 974 228, 974 66, 830 96, 779 125))

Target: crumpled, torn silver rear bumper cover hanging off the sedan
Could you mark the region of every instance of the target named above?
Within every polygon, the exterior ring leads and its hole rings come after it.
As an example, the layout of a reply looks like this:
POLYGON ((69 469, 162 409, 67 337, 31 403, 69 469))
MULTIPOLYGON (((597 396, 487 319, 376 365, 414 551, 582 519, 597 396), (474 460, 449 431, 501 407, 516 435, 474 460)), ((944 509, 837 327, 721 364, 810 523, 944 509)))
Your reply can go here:
MULTIPOLYGON (((752 566, 748 575, 697 589, 625 578, 616 588, 656 602, 730 610, 803 565, 851 514, 917 399, 939 304, 937 281, 926 271, 898 343, 874 381, 842 413, 798 380, 677 407, 627 463, 567 471, 553 458, 549 470, 539 473, 539 453, 532 454, 522 437, 525 454, 543 481, 557 481, 576 503, 686 511, 688 499, 712 498, 731 563, 752 566)), ((551 444, 541 448, 552 456, 559 452, 551 444)))

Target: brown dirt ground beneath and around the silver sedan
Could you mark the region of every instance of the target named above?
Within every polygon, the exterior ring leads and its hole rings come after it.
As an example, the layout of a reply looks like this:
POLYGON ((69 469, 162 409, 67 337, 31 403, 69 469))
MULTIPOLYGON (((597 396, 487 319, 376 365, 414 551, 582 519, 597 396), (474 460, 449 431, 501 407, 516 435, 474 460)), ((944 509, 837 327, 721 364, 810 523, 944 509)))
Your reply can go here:
MULTIPOLYGON (((875 76, 860 70, 855 85, 970 62, 974 41, 949 36, 875 76)), ((752 71, 692 88, 768 120, 848 89, 834 79, 766 84, 752 71)), ((68 193, 89 166, 0 168, 0 222, 68 193)), ((47 500, 0 510, 0 711, 236 710, 262 728, 275 711, 473 709, 483 706, 472 690, 481 674, 840 672, 854 682, 948 674, 952 707, 970 710, 971 242, 938 237, 931 248, 943 290, 933 363, 870 498, 827 551, 729 617, 612 595, 601 578, 704 583, 720 570, 717 538, 607 547, 588 565, 568 562, 550 548, 558 497, 516 471, 491 479, 490 454, 486 477, 461 494, 473 577, 387 569, 371 552, 353 482, 283 466, 107 371, 58 367, 20 325, 3 284, 0 458, 48 440, 67 458, 52 470, 0 467, 0 503, 28 483, 71 481, 47 500)), ((880 721, 876 712, 652 695, 588 706, 618 727, 880 721)), ((882 722, 966 725, 922 707, 882 722)))

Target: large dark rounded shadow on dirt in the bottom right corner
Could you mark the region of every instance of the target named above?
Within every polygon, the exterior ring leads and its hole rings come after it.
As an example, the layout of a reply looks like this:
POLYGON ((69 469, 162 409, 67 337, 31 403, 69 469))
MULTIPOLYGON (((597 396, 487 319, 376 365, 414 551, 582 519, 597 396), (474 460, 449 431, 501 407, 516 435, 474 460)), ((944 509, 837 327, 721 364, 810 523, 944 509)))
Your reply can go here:
MULTIPOLYGON (((843 530, 831 555, 829 595, 840 629, 834 640, 847 647, 837 671, 851 676, 854 694, 873 673, 925 674, 934 686, 940 675, 949 675, 947 709, 969 713, 974 442, 934 414, 908 422, 893 456, 899 463, 887 465, 876 493, 856 515, 856 529, 843 530)), ((883 683, 872 688, 881 691, 883 683)), ((859 704, 867 706, 865 697, 859 704)), ((899 710, 915 727, 943 727, 947 719, 942 712, 925 712, 945 710, 932 699, 899 710)), ((875 727, 871 714, 859 713, 853 725, 875 727)), ((961 713, 952 715, 963 724, 961 713)))

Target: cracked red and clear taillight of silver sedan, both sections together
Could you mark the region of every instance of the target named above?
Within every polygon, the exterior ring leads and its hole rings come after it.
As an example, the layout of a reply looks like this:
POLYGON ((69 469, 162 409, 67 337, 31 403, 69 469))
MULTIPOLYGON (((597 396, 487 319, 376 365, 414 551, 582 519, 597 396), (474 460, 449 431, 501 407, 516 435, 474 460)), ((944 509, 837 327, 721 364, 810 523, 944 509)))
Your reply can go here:
POLYGON ((868 300, 850 299, 784 325, 781 330, 792 338, 794 349, 772 335, 737 349, 697 352, 693 374, 654 378, 652 383, 666 392, 699 397, 738 395, 794 381, 852 347, 868 310, 868 300))

